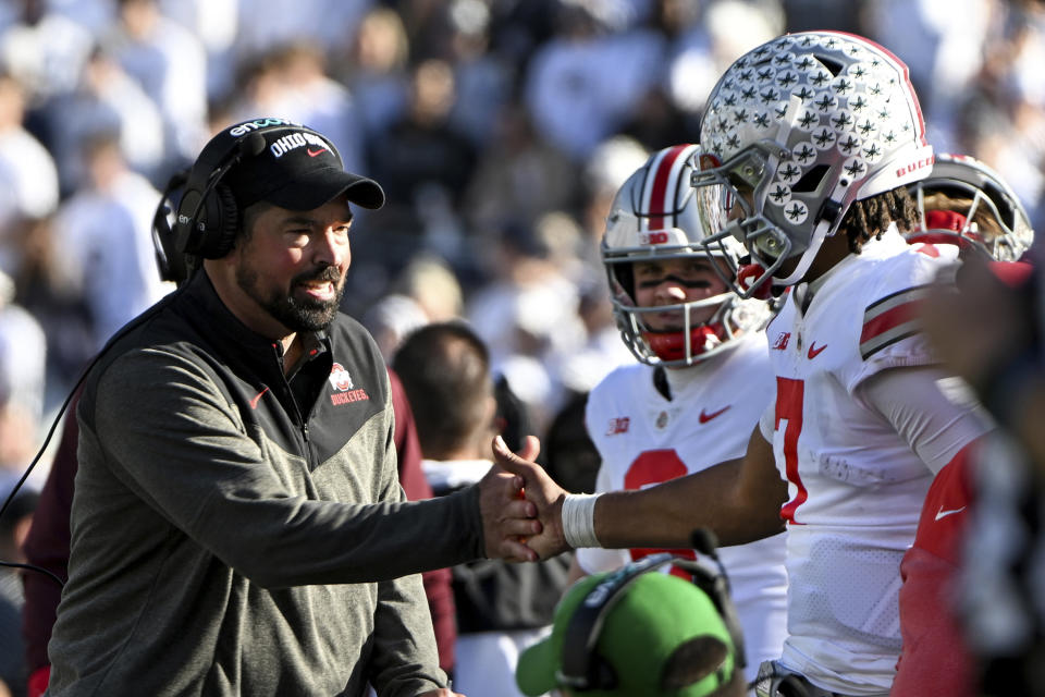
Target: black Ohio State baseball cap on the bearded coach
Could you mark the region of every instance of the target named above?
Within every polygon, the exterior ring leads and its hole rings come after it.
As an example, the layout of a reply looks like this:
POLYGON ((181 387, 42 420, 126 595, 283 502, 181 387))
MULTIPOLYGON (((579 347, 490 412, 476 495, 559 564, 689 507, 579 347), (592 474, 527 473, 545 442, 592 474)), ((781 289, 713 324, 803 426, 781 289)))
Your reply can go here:
POLYGON ((285 119, 255 119, 230 126, 214 140, 238 150, 224 178, 241 210, 267 201, 291 210, 311 210, 341 194, 364 208, 384 205, 384 191, 366 176, 346 172, 341 155, 320 133, 285 119))

